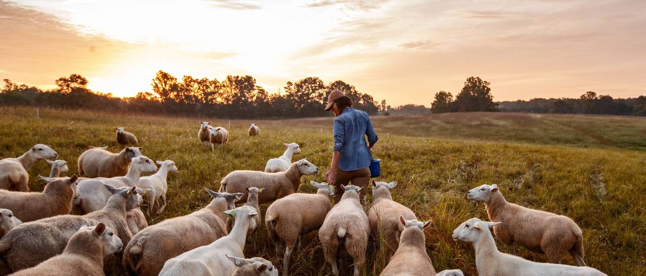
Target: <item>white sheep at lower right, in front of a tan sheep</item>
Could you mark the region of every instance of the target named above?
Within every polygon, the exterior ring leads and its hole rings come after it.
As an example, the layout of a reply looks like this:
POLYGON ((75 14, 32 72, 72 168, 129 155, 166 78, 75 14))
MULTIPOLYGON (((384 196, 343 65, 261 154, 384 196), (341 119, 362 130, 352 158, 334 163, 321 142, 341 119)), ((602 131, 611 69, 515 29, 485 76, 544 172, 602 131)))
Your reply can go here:
POLYGON ((489 230, 490 227, 498 224, 500 222, 481 221, 474 217, 464 221, 453 230, 453 240, 474 245, 475 266, 478 270, 478 275, 605 275, 599 270, 585 266, 532 262, 521 257, 501 253, 495 246, 494 237, 489 230))

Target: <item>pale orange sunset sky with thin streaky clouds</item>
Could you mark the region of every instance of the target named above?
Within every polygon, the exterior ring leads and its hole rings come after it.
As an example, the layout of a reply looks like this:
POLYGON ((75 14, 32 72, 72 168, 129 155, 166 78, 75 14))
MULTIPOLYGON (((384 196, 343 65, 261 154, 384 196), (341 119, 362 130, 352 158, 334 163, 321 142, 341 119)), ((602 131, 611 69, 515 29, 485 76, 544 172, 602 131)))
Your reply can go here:
POLYGON ((0 78, 41 88, 78 73, 118 97, 159 70, 344 80, 430 106, 470 76, 494 100, 646 95, 646 1, 0 0, 0 78))

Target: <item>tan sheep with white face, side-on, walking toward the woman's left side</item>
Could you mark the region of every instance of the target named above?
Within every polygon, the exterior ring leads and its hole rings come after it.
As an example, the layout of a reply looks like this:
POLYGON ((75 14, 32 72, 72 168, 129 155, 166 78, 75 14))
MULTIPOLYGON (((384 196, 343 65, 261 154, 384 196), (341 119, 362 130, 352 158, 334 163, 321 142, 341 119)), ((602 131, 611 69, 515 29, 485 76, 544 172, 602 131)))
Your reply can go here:
MULTIPOLYGON (((246 192, 249 187, 264 188, 264 192, 258 195, 258 204, 264 204, 284 198, 297 192, 300 187, 301 176, 318 174, 318 168, 305 159, 298 160, 291 164, 284 172, 258 172, 256 170, 235 170, 220 181, 224 192, 246 192)), ((241 200, 246 200, 247 195, 241 200)))

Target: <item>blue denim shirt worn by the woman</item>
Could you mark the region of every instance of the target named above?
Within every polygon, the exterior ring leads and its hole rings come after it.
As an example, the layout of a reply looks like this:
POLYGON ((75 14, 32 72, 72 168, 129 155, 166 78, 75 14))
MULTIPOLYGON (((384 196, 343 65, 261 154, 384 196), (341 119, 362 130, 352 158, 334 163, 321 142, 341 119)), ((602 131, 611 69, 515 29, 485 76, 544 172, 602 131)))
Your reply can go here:
POLYGON ((358 170, 370 166, 372 154, 366 145, 374 144, 379 140, 368 113, 347 107, 334 120, 334 150, 341 152, 339 169, 358 170))

